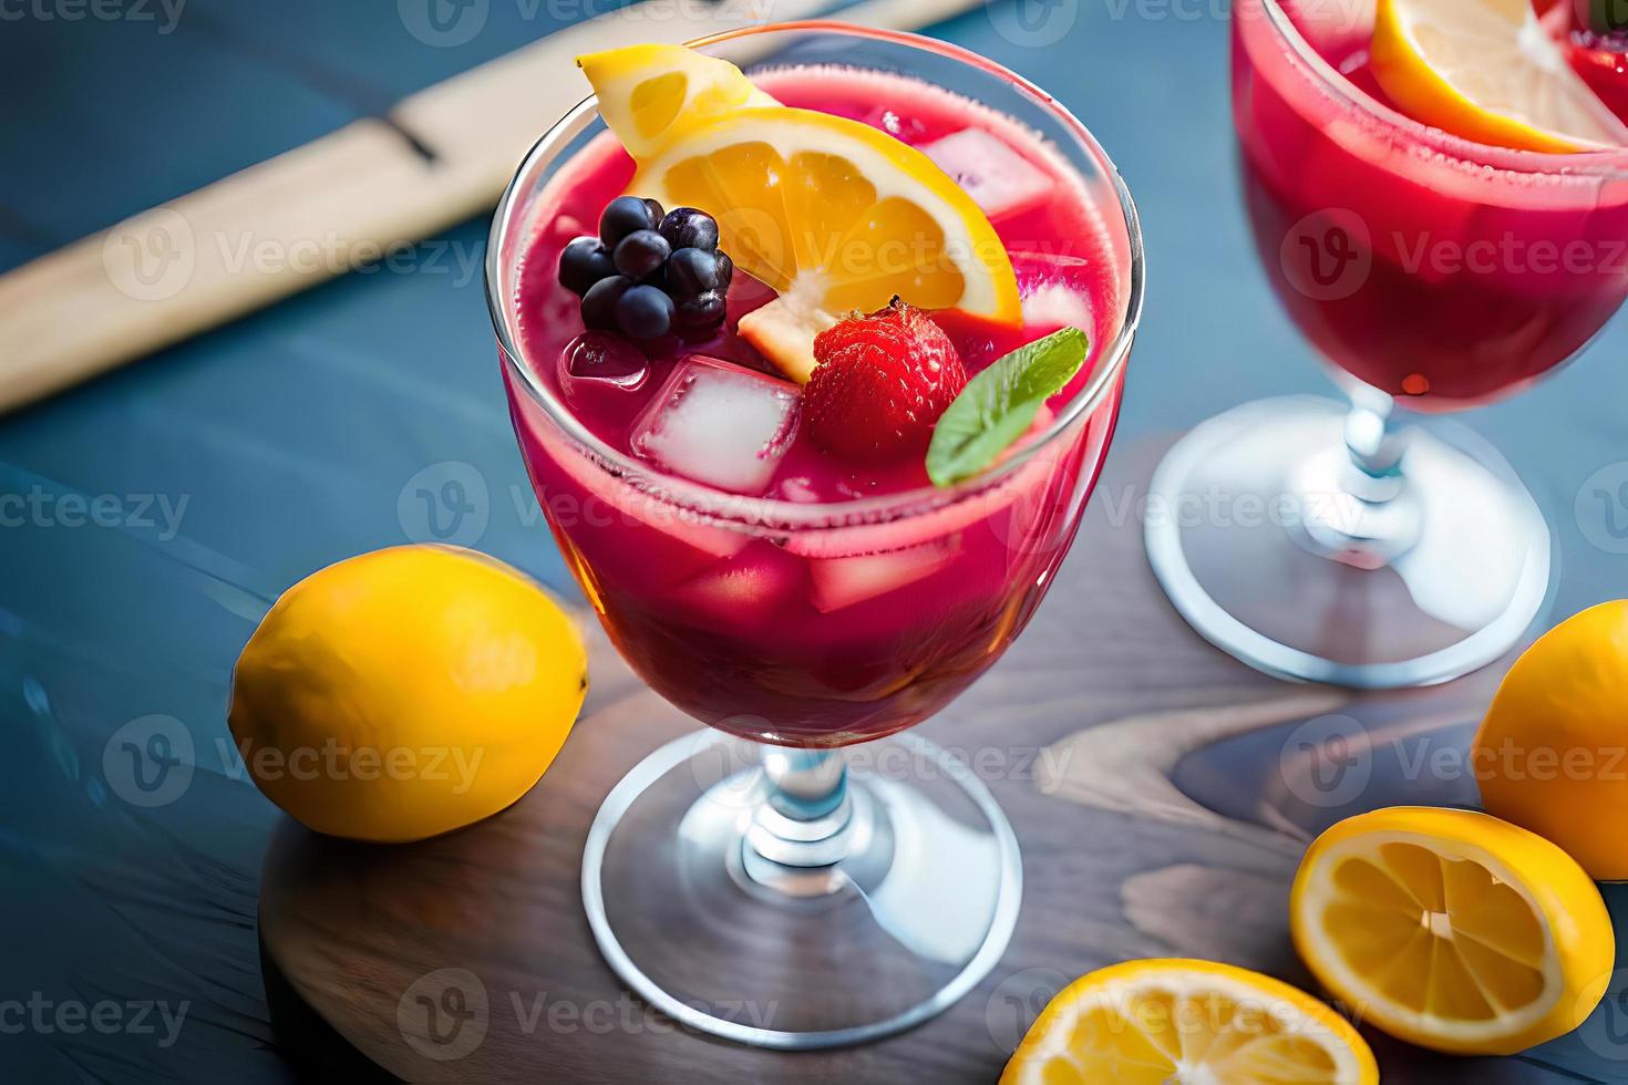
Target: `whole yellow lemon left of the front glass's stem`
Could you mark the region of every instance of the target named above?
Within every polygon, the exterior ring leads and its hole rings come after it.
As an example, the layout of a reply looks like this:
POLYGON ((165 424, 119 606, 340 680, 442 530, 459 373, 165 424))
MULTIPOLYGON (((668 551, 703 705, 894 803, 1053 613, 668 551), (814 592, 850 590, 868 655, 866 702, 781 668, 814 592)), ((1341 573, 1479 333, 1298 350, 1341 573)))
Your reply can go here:
POLYGON ((231 682, 238 753, 319 833, 410 841, 519 799, 588 693, 570 617, 506 564, 396 547, 300 581, 231 682))

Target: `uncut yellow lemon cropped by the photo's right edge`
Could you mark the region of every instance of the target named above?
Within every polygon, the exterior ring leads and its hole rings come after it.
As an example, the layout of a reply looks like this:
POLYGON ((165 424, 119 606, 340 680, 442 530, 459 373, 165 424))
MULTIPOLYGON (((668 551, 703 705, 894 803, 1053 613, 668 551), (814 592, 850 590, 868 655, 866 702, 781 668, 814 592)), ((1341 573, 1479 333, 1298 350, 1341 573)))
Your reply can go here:
POLYGON ((1488 813, 1555 841, 1595 880, 1628 878, 1628 599, 1538 638, 1470 756, 1488 813))

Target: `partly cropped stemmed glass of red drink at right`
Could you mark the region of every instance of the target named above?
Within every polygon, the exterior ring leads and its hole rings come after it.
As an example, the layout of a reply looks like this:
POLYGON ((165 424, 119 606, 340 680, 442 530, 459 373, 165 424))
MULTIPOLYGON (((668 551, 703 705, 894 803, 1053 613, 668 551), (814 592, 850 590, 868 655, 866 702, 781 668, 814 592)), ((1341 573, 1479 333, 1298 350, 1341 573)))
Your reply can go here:
POLYGON ((1177 610, 1260 670, 1359 688, 1503 656, 1548 590, 1509 465, 1442 415, 1525 389, 1628 294, 1628 151, 1472 143, 1384 101, 1372 11, 1242 0, 1232 117, 1255 244, 1348 403, 1263 400, 1159 465, 1146 542, 1177 610))

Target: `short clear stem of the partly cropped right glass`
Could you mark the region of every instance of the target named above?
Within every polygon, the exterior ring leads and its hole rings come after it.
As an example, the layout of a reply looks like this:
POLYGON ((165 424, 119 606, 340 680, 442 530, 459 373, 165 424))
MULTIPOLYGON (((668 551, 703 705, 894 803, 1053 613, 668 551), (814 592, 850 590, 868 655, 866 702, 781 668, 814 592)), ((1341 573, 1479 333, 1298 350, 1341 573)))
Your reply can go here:
POLYGON ((1421 517, 1403 473, 1410 439, 1389 395, 1374 389, 1351 395, 1345 449, 1311 460, 1301 475, 1306 534, 1315 551, 1381 569, 1413 548, 1421 517))

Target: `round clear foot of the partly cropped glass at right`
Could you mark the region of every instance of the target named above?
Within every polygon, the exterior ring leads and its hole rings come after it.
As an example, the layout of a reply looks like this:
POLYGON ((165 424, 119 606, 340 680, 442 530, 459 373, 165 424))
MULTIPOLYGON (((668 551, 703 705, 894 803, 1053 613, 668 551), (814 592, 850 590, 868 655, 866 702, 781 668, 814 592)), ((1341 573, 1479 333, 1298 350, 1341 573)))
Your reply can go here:
POLYGON ((1271 399, 1182 438, 1149 491, 1154 574, 1205 639, 1276 677, 1374 690, 1493 662, 1548 592, 1537 504, 1491 446, 1452 423, 1408 434, 1400 498, 1358 501, 1337 481, 1350 470, 1348 413, 1271 399), (1328 545, 1376 524, 1397 524, 1405 543, 1328 545))

